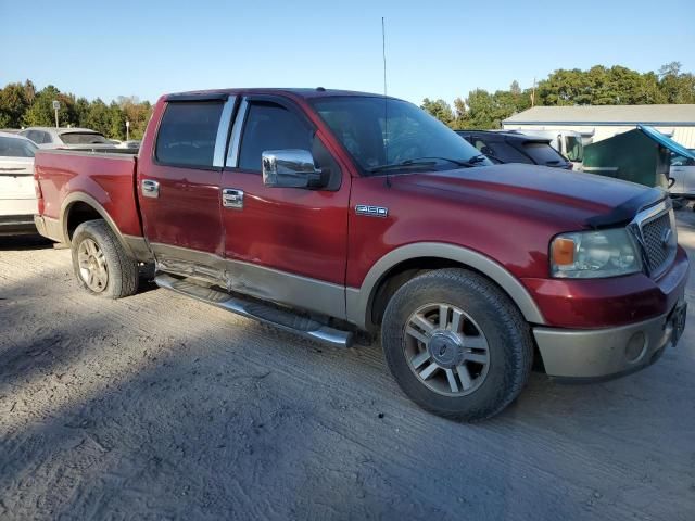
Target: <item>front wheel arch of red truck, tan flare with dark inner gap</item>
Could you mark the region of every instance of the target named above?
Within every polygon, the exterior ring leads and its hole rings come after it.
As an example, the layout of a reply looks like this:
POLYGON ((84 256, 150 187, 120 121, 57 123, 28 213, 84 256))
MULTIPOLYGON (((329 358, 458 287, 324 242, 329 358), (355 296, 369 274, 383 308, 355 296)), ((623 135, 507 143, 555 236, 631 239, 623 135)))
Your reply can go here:
POLYGON ((472 269, 485 276, 509 296, 528 322, 545 323, 531 294, 504 266, 473 250, 437 242, 407 244, 377 260, 361 288, 346 289, 348 320, 376 331, 378 316, 397 288, 420 271, 447 267, 472 269))

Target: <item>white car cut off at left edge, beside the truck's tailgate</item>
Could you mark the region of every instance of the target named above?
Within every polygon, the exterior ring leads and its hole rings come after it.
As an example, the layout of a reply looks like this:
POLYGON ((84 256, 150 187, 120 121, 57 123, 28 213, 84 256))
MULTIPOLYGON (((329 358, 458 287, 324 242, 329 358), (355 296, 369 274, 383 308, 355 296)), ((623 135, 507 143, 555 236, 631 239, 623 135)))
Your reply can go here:
POLYGON ((0 132, 0 236, 36 233, 36 144, 26 138, 0 132))

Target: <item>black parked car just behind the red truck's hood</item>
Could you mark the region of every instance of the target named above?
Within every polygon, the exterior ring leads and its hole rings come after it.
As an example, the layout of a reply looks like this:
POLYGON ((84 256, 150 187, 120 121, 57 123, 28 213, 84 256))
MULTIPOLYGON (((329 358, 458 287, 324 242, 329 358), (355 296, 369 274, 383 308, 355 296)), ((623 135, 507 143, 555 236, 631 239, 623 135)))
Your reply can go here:
POLYGON ((456 134, 493 163, 526 163, 572 169, 572 163, 551 147, 549 139, 493 130, 456 130, 456 134))

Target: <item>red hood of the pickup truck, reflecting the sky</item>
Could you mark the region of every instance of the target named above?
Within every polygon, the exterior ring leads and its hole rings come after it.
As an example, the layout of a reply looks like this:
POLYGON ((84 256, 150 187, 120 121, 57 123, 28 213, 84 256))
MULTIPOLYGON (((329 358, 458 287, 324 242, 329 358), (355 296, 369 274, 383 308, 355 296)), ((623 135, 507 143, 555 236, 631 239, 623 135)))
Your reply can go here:
POLYGON ((441 190, 440 196, 496 204, 542 219, 601 228, 629 223, 666 196, 661 189, 560 168, 502 164, 397 176, 403 185, 441 190))

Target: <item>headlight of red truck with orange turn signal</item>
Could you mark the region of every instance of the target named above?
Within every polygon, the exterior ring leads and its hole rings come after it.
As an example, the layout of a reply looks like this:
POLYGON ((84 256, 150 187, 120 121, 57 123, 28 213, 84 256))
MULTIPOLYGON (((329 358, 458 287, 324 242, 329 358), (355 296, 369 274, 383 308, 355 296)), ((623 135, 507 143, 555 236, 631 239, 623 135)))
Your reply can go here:
POLYGON ((551 243, 551 274, 598 279, 642 271, 642 257, 627 229, 561 233, 551 243))

